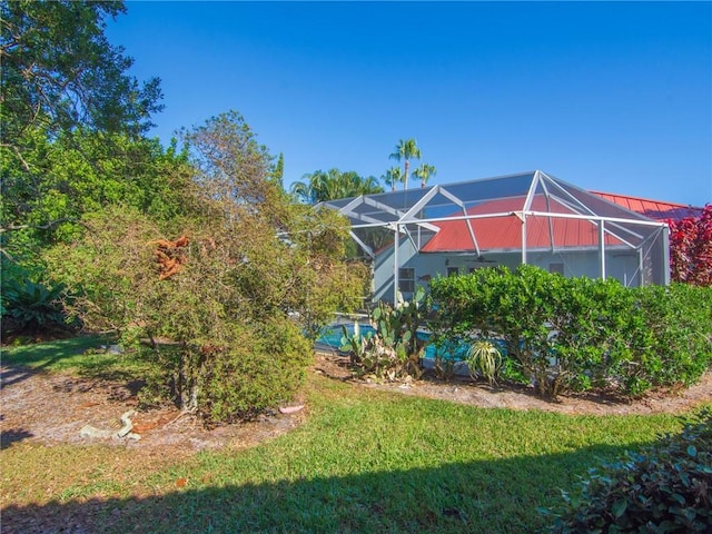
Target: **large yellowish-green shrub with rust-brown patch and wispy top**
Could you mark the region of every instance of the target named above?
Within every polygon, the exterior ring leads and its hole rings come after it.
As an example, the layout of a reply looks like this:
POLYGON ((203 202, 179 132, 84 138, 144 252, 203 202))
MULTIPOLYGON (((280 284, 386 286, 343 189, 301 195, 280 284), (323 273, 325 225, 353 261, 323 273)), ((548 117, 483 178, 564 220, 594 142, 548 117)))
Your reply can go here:
POLYGON ((357 301, 362 270, 342 261, 347 230, 334 212, 289 204, 239 115, 186 139, 190 217, 168 230, 137 209, 107 207, 82 219, 82 239, 44 257, 80 296, 72 310, 88 326, 144 339, 184 408, 209 421, 249 417, 299 387, 312 354, 303 333, 357 301))

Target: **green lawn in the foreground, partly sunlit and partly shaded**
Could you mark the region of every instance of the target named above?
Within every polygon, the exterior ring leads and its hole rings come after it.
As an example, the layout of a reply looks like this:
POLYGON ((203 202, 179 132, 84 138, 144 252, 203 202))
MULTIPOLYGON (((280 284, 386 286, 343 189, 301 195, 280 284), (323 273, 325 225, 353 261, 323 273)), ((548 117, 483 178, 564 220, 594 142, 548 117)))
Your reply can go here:
POLYGON ((79 517, 91 532, 537 532, 537 507, 590 467, 681 426, 662 414, 483 409, 320 376, 307 396, 298 429, 189 459, 19 443, 2 452, 3 520, 79 517))

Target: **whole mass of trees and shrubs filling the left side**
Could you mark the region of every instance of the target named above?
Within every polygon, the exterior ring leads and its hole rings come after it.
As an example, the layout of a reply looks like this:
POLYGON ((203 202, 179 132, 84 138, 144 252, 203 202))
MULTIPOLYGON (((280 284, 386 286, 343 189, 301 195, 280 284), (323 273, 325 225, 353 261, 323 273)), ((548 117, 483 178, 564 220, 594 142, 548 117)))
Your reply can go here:
POLYGON ((72 318, 117 330, 210 421, 289 398, 304 334, 363 293, 343 219, 290 201, 284 158, 239 113, 180 148, 146 138, 159 82, 129 76, 103 33, 123 2, 0 10, 3 338, 72 318))

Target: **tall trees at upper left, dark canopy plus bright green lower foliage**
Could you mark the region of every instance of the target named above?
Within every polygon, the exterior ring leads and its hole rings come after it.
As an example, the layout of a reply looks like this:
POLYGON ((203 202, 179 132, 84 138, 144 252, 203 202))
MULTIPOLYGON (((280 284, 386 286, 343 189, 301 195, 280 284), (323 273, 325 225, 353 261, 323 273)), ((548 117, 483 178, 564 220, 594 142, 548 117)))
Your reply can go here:
POLYGON ((125 11, 120 1, 0 3, 3 250, 8 233, 34 229, 42 243, 111 201, 171 204, 176 184, 158 174, 177 151, 142 137, 161 109, 159 80, 130 76, 131 58, 105 36, 125 11))

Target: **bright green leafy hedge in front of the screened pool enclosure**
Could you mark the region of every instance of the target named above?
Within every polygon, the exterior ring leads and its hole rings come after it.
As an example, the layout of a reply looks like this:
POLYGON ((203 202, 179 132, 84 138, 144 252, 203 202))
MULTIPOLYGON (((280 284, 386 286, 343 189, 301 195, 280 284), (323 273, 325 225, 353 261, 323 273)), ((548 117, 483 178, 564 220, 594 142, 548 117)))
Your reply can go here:
POLYGON ((712 288, 626 288, 533 266, 432 280, 431 327, 451 338, 500 338, 508 368, 541 394, 606 388, 634 396, 691 385, 712 364, 712 288))

